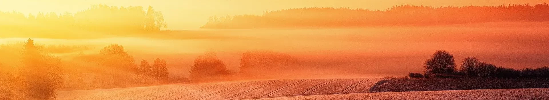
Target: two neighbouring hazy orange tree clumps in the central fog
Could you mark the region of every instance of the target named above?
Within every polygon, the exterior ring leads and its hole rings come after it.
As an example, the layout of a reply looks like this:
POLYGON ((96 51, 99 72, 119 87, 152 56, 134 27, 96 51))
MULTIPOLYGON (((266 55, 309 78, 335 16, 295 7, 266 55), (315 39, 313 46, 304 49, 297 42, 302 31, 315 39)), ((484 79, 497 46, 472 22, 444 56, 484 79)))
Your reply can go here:
MULTIPOLYGON (((254 50, 242 53, 240 57, 240 75, 260 76, 272 73, 273 70, 284 70, 298 61, 289 54, 254 50), (270 72, 271 71, 271 72, 270 72)), ((213 51, 204 52, 194 60, 191 68, 191 80, 208 80, 212 77, 236 74, 228 71, 225 63, 217 59, 213 51)))

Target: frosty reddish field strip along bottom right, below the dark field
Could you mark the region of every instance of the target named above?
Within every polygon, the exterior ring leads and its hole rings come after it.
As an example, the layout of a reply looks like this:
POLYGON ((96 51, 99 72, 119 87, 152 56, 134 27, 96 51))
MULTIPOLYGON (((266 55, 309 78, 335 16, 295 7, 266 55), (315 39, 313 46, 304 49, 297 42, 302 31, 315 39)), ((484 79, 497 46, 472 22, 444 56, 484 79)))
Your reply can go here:
POLYGON ((549 88, 351 93, 339 95, 260 98, 254 100, 296 99, 549 99, 549 88))

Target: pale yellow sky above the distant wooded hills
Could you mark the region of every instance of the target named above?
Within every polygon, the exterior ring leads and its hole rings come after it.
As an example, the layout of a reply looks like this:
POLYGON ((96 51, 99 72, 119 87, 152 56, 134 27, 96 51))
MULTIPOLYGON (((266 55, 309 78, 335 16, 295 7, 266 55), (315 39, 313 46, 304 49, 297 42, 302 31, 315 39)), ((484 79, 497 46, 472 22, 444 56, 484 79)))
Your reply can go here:
MULTIPOLYGON (((75 13, 92 4, 114 6, 152 5, 164 12, 171 30, 196 30, 209 16, 262 14, 265 11, 304 7, 347 7, 384 10, 393 5, 502 5, 544 3, 549 0, 0 0, 0 11, 22 13, 71 12, 75 13)), ((58 13, 58 14, 59 14, 58 13)))

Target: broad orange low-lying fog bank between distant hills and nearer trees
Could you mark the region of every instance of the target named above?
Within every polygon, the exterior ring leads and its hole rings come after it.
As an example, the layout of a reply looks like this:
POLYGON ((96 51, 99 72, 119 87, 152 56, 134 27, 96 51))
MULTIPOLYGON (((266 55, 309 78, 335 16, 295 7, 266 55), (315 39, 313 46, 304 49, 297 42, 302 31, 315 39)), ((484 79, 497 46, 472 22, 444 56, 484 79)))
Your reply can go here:
MULTIPOLYGON (((42 45, 90 45, 92 51, 117 43, 135 57, 164 58, 171 75, 188 75, 194 58, 213 49, 228 69, 238 71, 240 53, 253 49, 283 52, 315 69, 310 75, 335 77, 404 76, 422 73, 437 50, 509 68, 549 65, 549 28, 540 27, 372 27, 342 29, 249 29, 172 31, 164 37, 111 37, 84 40, 34 38, 42 45)), ((27 38, 2 38, 0 43, 27 38)), ((59 54, 63 57, 63 54, 59 54)), ((297 73, 297 72, 291 72, 297 73)), ((305 77, 307 75, 304 75, 305 77)))

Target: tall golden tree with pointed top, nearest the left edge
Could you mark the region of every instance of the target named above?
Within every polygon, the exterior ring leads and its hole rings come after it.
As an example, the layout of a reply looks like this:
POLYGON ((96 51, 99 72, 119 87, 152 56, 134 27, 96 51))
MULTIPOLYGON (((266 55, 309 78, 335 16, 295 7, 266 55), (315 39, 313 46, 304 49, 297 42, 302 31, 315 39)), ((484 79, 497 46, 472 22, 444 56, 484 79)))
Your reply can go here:
POLYGON ((55 90, 62 78, 61 60, 45 54, 34 40, 25 42, 21 53, 22 74, 25 78, 27 96, 33 99, 55 99, 55 90))

